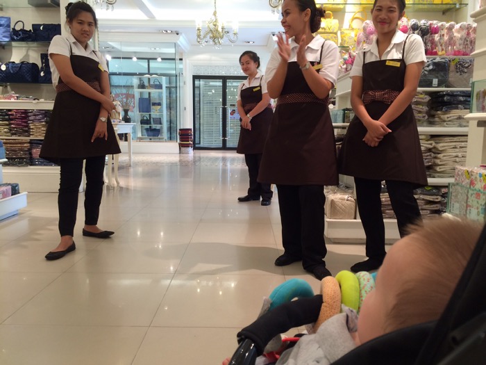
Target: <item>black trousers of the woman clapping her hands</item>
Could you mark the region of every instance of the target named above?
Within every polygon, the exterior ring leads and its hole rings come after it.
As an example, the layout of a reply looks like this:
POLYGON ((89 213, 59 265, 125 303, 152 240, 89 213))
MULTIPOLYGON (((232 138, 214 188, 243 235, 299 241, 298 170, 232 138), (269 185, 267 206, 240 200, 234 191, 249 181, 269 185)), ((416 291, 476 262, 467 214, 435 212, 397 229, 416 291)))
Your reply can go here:
POLYGON ((277 189, 285 253, 302 258, 305 270, 326 265, 324 186, 277 185, 277 189))

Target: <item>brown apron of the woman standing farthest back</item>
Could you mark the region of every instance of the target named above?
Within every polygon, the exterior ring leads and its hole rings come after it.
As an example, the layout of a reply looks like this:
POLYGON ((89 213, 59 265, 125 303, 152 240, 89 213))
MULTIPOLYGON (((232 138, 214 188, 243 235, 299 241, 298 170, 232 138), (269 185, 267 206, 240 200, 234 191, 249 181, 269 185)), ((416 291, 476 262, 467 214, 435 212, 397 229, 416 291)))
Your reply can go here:
MULTIPOLYGON (((263 76, 262 76, 263 77, 263 76)), ((241 91, 241 100, 246 114, 253 111, 253 108, 262 101, 262 79, 259 86, 250 86, 241 91)), ((251 131, 240 129, 240 140, 236 152, 239 154, 261 154, 265 147, 271 117, 274 115, 271 105, 251 118, 251 131)), ((242 119, 240 118, 240 122, 242 119)))

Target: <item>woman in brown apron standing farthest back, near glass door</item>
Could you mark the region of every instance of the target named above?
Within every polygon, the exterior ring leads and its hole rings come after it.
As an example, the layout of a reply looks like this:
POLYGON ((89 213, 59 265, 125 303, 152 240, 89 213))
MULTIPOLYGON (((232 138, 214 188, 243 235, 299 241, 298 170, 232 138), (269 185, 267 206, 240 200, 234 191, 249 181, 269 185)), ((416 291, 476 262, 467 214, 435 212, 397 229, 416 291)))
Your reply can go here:
POLYGON ((250 202, 260 200, 262 205, 268 206, 274 193, 271 184, 257 181, 258 170, 262 161, 263 147, 267 140, 271 117, 270 97, 267 92, 267 81, 260 72, 260 57, 253 51, 244 51, 240 56, 240 65, 244 74, 248 76, 238 88, 237 106, 240 114, 241 130, 240 140, 236 152, 244 154, 244 161, 248 166, 250 187, 244 197, 239 197, 238 202, 250 202))

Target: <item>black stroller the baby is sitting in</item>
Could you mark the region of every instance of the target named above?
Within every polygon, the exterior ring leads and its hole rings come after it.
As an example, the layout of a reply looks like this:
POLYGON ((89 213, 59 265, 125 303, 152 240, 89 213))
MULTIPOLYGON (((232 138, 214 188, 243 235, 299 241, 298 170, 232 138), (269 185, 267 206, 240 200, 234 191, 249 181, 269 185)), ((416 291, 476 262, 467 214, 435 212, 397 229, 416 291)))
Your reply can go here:
MULTIPOLYGON (((485 288, 486 225, 438 321, 413 325, 368 341, 333 365, 486 364, 485 288)), ((254 365, 256 358, 255 343, 244 339, 229 364, 254 365)))

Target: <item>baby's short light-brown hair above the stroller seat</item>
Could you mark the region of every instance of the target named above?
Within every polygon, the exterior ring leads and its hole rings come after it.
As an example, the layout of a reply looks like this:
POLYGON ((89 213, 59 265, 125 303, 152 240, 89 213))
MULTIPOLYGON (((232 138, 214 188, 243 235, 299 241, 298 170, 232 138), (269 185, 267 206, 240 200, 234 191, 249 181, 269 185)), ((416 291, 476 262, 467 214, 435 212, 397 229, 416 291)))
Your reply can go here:
POLYGON ((385 318, 385 333, 437 320, 476 246, 482 225, 456 218, 427 220, 410 229, 416 264, 403 273, 403 287, 385 318))

